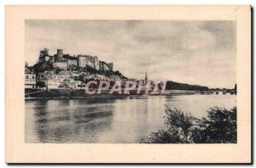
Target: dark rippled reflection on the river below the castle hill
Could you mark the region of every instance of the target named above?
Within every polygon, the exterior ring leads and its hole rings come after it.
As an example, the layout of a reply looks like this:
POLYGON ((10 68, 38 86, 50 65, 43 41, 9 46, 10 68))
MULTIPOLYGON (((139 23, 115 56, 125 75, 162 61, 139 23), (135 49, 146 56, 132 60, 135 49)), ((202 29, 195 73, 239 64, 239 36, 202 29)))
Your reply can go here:
POLYGON ((111 128, 114 101, 96 98, 97 104, 92 106, 93 101, 88 99, 65 100, 55 108, 50 100, 42 101, 34 109, 35 136, 40 143, 94 143, 111 128), (72 110, 62 107, 67 104, 82 106, 72 110))

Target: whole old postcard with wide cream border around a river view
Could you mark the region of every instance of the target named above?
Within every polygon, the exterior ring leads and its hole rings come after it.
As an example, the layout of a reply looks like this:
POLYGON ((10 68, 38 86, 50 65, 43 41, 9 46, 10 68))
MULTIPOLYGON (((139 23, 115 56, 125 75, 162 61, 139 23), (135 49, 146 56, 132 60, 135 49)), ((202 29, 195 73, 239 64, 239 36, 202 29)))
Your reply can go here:
POLYGON ((249 6, 6 7, 8 163, 250 163, 249 6))

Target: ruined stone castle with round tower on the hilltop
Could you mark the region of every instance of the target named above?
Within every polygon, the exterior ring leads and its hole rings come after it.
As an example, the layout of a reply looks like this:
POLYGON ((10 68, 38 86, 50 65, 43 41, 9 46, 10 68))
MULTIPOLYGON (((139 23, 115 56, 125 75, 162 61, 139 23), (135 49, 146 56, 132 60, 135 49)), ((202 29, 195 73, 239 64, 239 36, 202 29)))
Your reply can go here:
POLYGON ((38 62, 44 63, 46 61, 51 62, 54 68, 63 70, 67 70, 73 66, 78 66, 79 68, 90 66, 101 71, 113 70, 113 63, 99 61, 96 56, 90 55, 70 56, 69 54, 64 54, 62 49, 57 49, 57 53, 54 56, 48 54, 48 49, 41 51, 38 62))

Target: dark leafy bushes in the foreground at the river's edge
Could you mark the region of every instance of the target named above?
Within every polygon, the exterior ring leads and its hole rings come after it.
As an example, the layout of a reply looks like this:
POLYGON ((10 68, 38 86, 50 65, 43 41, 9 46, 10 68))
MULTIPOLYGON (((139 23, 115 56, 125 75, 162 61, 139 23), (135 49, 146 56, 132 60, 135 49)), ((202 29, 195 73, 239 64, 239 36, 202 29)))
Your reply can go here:
POLYGON ((141 143, 236 143, 236 107, 214 107, 197 119, 166 106, 166 130, 152 132, 141 143))

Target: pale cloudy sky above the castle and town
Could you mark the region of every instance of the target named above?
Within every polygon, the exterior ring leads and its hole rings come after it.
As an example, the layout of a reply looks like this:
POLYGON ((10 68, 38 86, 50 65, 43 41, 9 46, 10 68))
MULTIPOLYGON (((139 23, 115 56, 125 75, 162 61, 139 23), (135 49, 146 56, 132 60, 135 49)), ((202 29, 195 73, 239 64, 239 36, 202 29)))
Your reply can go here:
POLYGON ((129 78, 233 88, 236 83, 236 21, 26 20, 29 65, 39 51, 58 48, 113 62, 129 78))

